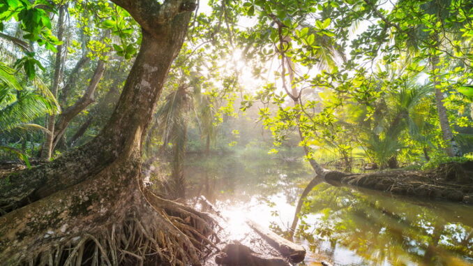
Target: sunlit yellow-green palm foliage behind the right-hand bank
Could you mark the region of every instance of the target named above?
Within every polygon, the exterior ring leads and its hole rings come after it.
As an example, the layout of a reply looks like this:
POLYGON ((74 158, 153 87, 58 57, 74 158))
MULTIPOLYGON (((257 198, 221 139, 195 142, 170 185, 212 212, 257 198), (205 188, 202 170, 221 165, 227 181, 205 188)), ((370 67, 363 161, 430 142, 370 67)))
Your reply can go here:
POLYGON ((400 86, 391 89, 375 102, 372 119, 365 121, 366 110, 353 112, 361 114, 354 118, 357 123, 352 126, 354 133, 361 130, 361 134, 354 135, 360 135, 358 140, 366 154, 381 168, 398 167, 397 154, 405 148, 400 139, 403 133, 424 146, 431 145, 422 130, 428 124, 425 119, 419 119, 423 114, 417 108, 429 96, 431 85, 422 86, 406 81, 400 86))

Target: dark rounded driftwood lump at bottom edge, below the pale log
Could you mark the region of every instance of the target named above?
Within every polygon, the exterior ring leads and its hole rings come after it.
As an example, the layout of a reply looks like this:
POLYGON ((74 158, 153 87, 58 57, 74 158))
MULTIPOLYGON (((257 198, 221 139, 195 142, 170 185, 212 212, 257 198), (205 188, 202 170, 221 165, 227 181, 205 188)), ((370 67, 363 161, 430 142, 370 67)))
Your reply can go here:
POLYGON ((290 266, 283 258, 267 257, 255 253, 255 251, 239 242, 227 244, 223 252, 215 257, 218 265, 227 266, 290 266))

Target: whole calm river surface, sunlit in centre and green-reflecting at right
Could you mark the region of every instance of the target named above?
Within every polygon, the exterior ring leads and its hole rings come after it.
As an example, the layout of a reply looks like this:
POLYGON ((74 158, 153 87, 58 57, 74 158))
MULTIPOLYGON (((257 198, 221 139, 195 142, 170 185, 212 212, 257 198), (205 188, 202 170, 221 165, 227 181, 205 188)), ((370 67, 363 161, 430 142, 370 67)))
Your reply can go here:
MULTIPOLYGON (((188 196, 205 195, 231 217, 234 239, 246 219, 276 232, 290 228, 313 172, 300 160, 193 157, 188 196)), ((394 198, 319 184, 299 214, 294 242, 308 251, 300 265, 473 265, 473 207, 394 198)), ((240 229, 241 228, 241 229, 240 229)))

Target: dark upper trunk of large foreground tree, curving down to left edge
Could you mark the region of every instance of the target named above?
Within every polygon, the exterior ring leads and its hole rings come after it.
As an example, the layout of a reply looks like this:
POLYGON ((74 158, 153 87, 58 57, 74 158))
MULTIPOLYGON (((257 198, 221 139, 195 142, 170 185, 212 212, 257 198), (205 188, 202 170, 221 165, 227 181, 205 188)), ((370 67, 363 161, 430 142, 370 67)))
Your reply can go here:
MULTIPOLYGON (((181 6, 181 1, 173 1, 181 6)), ((179 9, 178 9, 179 10, 179 9)), ((138 15, 139 10, 130 9, 138 15)), ((73 186, 107 167, 129 145, 146 135, 167 72, 186 36, 190 12, 142 29, 142 45, 109 122, 97 138, 52 163, 26 170, 0 182, 0 208, 10 211, 73 186), (140 138, 135 139, 135 135, 140 138), (131 137, 131 138, 130 138, 131 137)))

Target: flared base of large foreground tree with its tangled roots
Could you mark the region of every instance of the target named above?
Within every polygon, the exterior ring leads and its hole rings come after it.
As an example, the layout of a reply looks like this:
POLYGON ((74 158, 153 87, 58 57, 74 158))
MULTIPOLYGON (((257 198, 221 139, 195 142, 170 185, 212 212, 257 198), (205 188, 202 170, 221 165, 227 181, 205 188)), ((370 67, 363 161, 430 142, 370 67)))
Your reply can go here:
POLYGON ((4 214, 0 265, 200 265, 215 222, 144 189, 139 173, 139 161, 116 161, 4 214))

